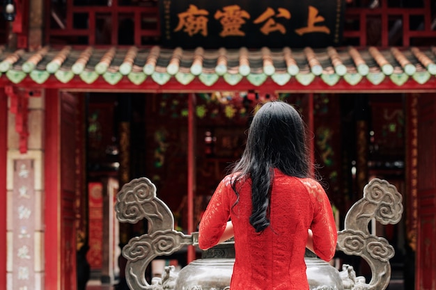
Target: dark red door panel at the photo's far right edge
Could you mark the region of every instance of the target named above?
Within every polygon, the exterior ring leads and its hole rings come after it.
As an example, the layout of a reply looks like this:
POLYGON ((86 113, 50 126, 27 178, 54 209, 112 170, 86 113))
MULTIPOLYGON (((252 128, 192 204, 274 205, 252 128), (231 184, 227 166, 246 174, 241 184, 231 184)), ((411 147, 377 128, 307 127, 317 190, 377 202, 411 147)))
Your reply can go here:
POLYGON ((418 99, 416 290, 436 289, 436 95, 418 99))

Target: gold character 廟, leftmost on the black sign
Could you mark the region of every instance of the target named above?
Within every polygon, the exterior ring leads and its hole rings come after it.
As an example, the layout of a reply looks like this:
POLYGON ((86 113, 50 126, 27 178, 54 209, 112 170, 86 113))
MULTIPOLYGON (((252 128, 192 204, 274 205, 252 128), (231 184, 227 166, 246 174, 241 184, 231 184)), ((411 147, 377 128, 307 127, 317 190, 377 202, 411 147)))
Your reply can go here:
POLYGON ((189 9, 184 13, 179 13, 179 23, 174 31, 183 29, 189 36, 201 33, 203 36, 208 35, 208 11, 199 10, 195 5, 189 5, 189 9))

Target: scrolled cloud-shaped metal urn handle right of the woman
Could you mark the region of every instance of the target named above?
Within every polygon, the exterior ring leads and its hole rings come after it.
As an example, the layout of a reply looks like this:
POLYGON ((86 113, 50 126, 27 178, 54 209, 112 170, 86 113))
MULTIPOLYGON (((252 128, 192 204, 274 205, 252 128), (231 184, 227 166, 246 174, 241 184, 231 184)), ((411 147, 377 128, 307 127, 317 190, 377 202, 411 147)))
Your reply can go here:
MULTIPOLYGON (((369 284, 355 281, 359 289, 383 290, 389 285, 389 259, 394 257, 394 247, 387 239, 371 234, 368 224, 371 220, 383 225, 398 223, 403 214, 402 200, 394 185, 375 178, 364 187, 363 198, 353 204, 345 216, 344 229, 338 232, 336 249, 347 255, 362 257, 372 272, 369 284)), ((345 267, 344 270, 350 271, 350 268, 345 267)))

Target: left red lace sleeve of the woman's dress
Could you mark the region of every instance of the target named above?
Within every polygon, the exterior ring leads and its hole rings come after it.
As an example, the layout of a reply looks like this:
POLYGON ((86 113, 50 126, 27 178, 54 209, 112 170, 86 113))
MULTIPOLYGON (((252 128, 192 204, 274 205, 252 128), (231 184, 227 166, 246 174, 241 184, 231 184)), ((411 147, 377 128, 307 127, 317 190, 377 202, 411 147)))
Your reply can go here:
POLYGON ((219 183, 201 218, 198 228, 198 246, 203 250, 217 245, 226 229, 231 208, 228 190, 231 190, 230 178, 226 177, 219 183))

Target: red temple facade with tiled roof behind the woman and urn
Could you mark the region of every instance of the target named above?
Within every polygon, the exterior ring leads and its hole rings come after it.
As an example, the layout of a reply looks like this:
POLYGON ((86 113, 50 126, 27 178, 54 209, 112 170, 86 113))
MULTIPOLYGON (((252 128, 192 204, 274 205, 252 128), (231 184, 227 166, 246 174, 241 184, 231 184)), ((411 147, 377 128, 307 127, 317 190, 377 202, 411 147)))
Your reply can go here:
MULTIPOLYGON (((134 178, 195 232, 252 113, 281 99, 311 132, 338 230, 387 179, 403 219, 371 231, 394 246, 404 289, 435 289, 435 1, 215 2, 3 1, 0 288, 122 280, 120 248, 148 230, 114 216, 134 178)), ((349 259, 338 252, 368 274, 349 259)))

